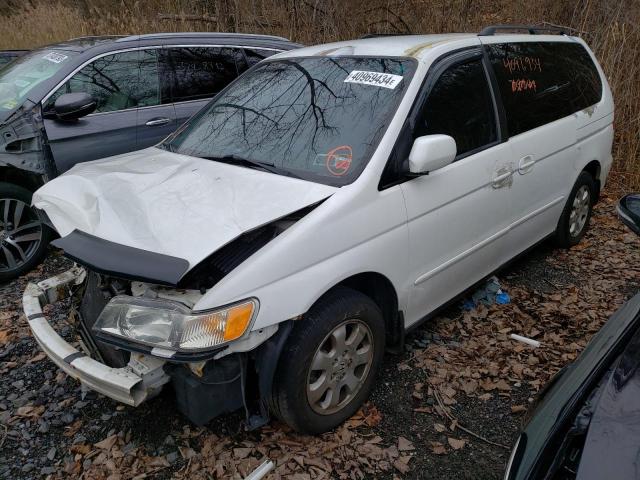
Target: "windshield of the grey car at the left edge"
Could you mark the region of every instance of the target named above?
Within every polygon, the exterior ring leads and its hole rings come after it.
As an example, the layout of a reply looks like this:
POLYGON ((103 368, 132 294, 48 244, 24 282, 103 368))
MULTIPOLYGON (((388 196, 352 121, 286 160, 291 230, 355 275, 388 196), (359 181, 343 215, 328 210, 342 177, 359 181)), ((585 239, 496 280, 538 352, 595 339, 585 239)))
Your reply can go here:
POLYGON ((0 69, 0 114, 13 110, 33 88, 71 61, 72 52, 37 50, 0 69))

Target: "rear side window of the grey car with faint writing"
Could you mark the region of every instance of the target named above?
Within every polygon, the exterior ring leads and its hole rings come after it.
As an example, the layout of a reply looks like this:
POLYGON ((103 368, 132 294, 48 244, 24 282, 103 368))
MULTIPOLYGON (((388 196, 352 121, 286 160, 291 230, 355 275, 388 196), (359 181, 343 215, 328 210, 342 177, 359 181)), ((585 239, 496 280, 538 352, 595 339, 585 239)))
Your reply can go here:
POLYGON ((179 47, 161 52, 163 98, 174 102, 211 98, 238 76, 241 50, 179 47))

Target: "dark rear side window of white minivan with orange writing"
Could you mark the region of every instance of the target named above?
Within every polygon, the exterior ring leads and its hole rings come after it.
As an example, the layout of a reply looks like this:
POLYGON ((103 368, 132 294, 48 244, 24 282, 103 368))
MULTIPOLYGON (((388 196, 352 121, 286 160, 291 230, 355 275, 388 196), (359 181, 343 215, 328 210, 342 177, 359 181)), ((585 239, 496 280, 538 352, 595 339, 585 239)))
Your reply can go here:
POLYGON ((569 116, 602 97, 600 75, 578 43, 504 43, 486 49, 511 136, 569 116))

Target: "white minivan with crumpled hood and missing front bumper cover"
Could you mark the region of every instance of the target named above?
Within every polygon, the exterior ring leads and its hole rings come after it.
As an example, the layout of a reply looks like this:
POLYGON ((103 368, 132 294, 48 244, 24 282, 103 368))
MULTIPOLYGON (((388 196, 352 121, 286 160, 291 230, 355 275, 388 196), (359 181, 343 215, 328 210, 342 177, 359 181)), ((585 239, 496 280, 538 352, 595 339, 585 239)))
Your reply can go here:
POLYGON ((334 428, 407 329, 585 233, 613 99, 584 41, 528 31, 281 53, 156 147, 47 183, 33 204, 76 265, 27 287, 36 340, 130 405, 171 382, 198 424, 334 428), (65 294, 78 348, 42 313, 65 294))

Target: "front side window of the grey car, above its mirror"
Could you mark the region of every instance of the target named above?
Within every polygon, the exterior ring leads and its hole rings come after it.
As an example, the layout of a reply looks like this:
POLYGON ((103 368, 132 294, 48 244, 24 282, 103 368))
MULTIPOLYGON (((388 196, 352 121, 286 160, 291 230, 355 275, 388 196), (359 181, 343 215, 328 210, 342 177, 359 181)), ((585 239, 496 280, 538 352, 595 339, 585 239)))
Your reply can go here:
POLYGON ((85 92, 97 103, 96 112, 115 112, 158 105, 155 50, 135 50, 97 58, 84 66, 49 97, 45 110, 65 93, 85 92))

